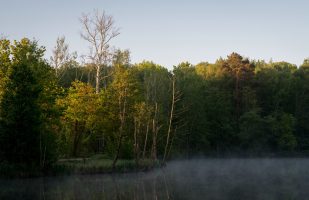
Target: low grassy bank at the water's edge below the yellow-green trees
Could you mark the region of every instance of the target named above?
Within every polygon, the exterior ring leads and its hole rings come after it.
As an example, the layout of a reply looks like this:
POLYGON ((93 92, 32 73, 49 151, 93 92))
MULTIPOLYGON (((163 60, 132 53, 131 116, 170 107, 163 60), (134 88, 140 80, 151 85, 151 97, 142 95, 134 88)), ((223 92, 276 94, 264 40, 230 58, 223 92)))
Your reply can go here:
POLYGON ((104 155, 94 155, 87 158, 60 159, 46 170, 38 167, 0 163, 0 178, 28 178, 39 176, 58 176, 70 174, 97 174, 97 173, 126 173, 147 171, 159 166, 159 162, 150 159, 117 161, 115 168, 113 160, 104 155))

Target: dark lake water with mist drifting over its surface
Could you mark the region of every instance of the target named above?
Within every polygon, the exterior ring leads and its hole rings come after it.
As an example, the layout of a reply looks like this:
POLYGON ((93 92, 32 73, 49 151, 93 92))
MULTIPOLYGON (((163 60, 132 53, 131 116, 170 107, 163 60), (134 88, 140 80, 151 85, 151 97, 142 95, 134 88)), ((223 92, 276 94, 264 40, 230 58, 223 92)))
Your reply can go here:
POLYGON ((202 159, 163 170, 0 181, 0 199, 309 199, 309 159, 202 159))

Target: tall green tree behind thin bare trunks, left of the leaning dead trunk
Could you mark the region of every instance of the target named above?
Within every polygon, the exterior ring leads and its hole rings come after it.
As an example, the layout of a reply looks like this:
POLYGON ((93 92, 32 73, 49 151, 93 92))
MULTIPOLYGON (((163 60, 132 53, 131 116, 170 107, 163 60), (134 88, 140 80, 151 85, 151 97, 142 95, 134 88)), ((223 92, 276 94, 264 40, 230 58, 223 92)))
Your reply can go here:
MULTIPOLYGON (((145 116, 145 119, 148 118, 149 121, 144 123, 149 124, 146 125, 146 135, 149 132, 149 137, 147 137, 147 142, 149 141, 148 153, 151 159, 156 161, 158 154, 161 153, 160 150, 165 145, 159 143, 159 140, 166 136, 164 128, 166 128, 165 125, 169 119, 170 73, 166 68, 149 61, 134 65, 133 72, 140 88, 140 98, 142 99, 140 101, 145 102, 146 110, 150 112, 149 116, 145 116)), ((145 156, 146 151, 146 149, 143 150, 145 156)))

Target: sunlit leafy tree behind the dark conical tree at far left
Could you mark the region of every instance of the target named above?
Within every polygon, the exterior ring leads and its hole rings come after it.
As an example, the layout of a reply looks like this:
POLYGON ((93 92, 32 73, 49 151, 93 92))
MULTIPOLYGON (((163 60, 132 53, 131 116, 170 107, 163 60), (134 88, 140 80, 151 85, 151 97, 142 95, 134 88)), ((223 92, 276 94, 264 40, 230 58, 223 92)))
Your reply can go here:
MULTIPOLYGON (((55 131, 57 129, 58 112, 55 107, 55 99, 57 98, 59 88, 56 85, 53 70, 45 59, 43 59, 45 48, 38 46, 36 41, 23 38, 20 41, 14 41, 12 43, 9 40, 1 40, 0 44, 0 74, 4 77, 0 82, 4 83, 2 84, 3 93, 6 93, 8 87, 12 84, 10 76, 13 71, 19 70, 20 68, 26 68, 26 71, 31 72, 29 76, 33 77, 35 84, 41 88, 35 104, 39 106, 40 110, 40 115, 37 116, 39 117, 38 123, 40 123, 40 165, 44 168, 54 162, 56 158, 55 131)), ((26 71, 25 73, 27 73, 26 71)), ((28 80, 27 75, 24 76, 18 79, 20 81, 18 84, 21 84, 21 86, 23 84, 22 78, 28 80)), ((11 95, 14 95, 14 93, 11 95)), ((25 99, 27 98, 28 96, 25 95, 25 99)), ((2 120, 6 119, 2 118, 2 120)))

